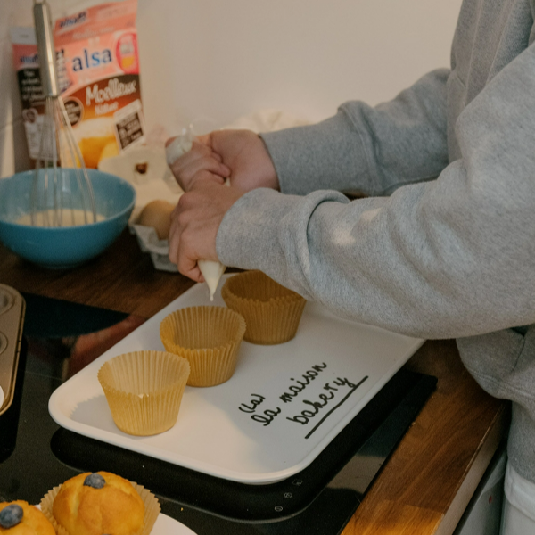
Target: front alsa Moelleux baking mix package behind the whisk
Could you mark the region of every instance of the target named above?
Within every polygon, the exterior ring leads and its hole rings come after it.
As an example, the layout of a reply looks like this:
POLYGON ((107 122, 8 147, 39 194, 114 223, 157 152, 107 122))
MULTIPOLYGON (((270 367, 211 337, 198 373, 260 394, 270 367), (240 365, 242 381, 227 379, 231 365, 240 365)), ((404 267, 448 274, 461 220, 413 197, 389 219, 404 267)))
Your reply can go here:
POLYGON ((136 10, 123 0, 55 22, 62 98, 88 168, 145 141, 136 10))

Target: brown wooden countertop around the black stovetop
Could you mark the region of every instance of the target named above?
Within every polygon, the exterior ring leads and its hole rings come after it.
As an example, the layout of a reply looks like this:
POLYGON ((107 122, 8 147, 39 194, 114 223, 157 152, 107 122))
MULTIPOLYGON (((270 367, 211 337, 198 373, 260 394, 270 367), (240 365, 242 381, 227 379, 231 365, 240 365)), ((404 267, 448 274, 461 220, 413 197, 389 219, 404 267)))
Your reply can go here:
MULTIPOLYGON (((37 268, 0 244, 0 283, 148 318, 193 285, 156 271, 125 231, 100 258, 70 271, 37 268)), ((407 432, 342 535, 452 533, 508 424, 462 365, 454 341, 428 341, 407 367, 438 378, 437 390, 407 432)))

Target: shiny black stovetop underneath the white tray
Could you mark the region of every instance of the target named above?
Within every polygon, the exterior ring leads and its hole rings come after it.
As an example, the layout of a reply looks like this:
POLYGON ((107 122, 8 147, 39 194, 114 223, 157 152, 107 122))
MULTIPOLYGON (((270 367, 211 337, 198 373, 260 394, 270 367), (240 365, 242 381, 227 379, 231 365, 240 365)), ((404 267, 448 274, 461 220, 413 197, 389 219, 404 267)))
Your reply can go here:
POLYGON ((152 490, 162 513, 198 535, 338 535, 436 384, 433 377, 401 369, 302 472, 269 485, 221 480, 55 424, 47 407, 52 392, 107 349, 103 339, 117 342, 139 321, 111 310, 23 297, 15 399, 0 416, 0 496, 8 501, 38 503, 77 473, 106 470, 152 490))

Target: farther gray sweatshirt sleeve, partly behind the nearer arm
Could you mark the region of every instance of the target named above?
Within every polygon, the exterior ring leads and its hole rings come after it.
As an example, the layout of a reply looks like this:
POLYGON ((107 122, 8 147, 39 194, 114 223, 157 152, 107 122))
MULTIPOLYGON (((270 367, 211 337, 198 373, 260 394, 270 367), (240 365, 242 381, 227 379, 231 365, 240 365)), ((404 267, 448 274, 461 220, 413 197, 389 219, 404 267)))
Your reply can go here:
POLYGON ((448 75, 434 70, 389 103, 352 101, 316 125, 262 134, 281 191, 383 195, 436 178, 448 163, 448 75))

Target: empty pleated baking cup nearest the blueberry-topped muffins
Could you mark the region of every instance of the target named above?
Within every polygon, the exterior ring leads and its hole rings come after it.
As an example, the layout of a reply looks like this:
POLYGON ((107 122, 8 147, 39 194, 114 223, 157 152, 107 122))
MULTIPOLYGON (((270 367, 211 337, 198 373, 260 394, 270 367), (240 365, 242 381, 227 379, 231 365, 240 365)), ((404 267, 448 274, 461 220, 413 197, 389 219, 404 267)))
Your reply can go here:
POLYGON ((177 423, 190 365, 166 351, 134 351, 111 358, 98 381, 122 432, 146 436, 177 423))

